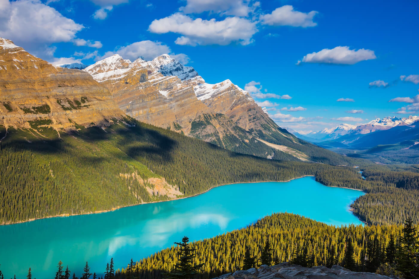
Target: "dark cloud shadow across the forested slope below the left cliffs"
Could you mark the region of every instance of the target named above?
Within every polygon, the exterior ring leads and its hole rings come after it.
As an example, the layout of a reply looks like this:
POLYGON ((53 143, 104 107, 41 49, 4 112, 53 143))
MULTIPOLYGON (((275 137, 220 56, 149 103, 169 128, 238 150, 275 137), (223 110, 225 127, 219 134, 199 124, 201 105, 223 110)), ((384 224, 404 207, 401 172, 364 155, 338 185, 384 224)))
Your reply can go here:
POLYGON ((23 130, 13 130, 10 137, 8 135, 7 142, 3 142, 2 145, 45 155, 69 155, 77 157, 78 161, 83 164, 100 163, 106 160, 100 153, 105 152, 106 155, 112 156, 112 150, 109 150, 109 147, 116 147, 135 160, 147 158, 159 161, 159 163, 172 161, 173 149, 177 142, 164 135, 165 130, 159 131, 159 128, 147 126, 150 125, 114 124, 105 130, 100 127, 88 127, 68 134, 61 133, 60 139, 39 138, 23 130), (78 140, 91 143, 93 149, 97 148, 98 154, 83 153, 81 151, 83 148, 78 147, 81 143, 78 140), (109 146, 101 145, 103 142, 109 146))

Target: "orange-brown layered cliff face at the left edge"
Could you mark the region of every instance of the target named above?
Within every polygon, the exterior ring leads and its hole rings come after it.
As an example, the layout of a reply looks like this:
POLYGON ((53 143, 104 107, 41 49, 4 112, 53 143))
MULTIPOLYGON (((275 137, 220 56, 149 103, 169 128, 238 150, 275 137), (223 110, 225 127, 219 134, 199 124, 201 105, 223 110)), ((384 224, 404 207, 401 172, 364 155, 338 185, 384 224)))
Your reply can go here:
POLYGON ((31 121, 44 120, 66 130, 122 115, 109 90, 88 73, 54 66, 0 38, 0 125, 30 128, 31 121))

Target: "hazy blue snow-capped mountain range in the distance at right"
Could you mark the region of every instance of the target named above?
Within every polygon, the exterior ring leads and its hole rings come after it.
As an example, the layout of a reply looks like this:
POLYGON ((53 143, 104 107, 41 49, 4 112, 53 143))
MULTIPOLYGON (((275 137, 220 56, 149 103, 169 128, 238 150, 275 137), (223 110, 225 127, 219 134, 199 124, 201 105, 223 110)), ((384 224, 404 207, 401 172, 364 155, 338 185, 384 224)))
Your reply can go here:
POLYGON ((356 127, 341 124, 307 135, 287 130, 296 137, 347 156, 378 163, 419 163, 419 116, 378 118, 356 127))

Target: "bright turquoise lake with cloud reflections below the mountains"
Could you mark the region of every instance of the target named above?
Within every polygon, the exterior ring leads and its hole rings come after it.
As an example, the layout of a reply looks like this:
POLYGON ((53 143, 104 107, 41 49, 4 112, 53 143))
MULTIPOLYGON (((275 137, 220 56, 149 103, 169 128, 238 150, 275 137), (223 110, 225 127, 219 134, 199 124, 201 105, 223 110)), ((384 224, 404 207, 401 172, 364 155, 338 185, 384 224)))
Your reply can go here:
POLYGON ((289 182, 239 183, 170 202, 113 212, 54 217, 0 226, 0 270, 5 278, 54 278, 58 261, 80 277, 85 262, 102 274, 138 261, 184 235, 210 238, 246 227, 273 212, 290 212, 330 225, 361 224, 349 205, 361 191, 323 186, 314 177, 289 182))

